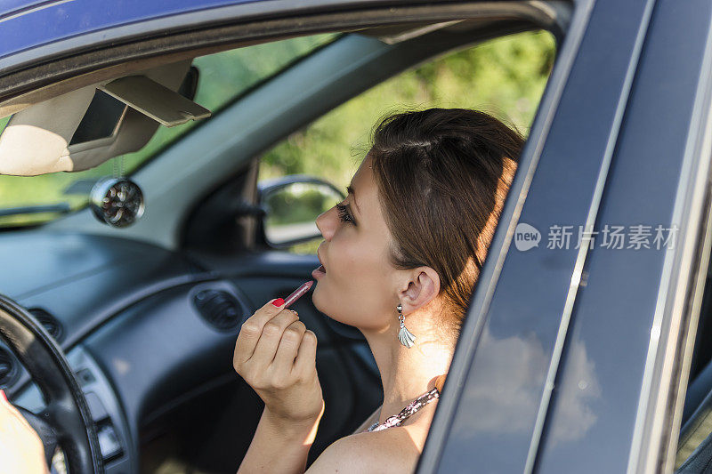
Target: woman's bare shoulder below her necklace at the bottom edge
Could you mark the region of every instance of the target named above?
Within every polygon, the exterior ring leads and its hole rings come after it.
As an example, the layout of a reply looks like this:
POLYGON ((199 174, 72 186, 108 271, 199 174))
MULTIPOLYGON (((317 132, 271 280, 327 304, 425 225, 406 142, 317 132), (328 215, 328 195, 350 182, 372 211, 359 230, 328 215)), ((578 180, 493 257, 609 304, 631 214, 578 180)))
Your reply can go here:
POLYGON ((357 433, 329 445, 306 472, 409 473, 416 469, 420 452, 419 443, 404 427, 357 433))

